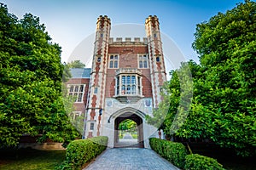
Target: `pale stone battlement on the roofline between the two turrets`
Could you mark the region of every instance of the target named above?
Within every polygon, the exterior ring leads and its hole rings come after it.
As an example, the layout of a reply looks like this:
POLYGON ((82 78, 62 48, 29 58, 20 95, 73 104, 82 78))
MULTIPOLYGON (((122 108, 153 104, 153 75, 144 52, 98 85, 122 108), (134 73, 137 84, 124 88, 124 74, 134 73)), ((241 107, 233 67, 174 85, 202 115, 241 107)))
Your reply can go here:
POLYGON ((116 37, 115 40, 113 39, 113 37, 109 38, 109 44, 143 44, 143 45, 147 45, 148 44, 148 38, 147 37, 143 37, 142 41, 140 37, 134 37, 133 39, 131 39, 131 37, 125 37, 124 41, 122 37, 116 37))

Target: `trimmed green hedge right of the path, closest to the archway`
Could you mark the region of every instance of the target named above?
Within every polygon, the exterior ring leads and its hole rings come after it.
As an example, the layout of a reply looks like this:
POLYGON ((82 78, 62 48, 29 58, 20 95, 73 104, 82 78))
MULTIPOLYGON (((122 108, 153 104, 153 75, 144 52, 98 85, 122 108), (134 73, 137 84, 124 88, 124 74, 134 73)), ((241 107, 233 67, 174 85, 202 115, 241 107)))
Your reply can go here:
POLYGON ((183 144, 156 138, 149 139, 149 144, 152 150, 166 158, 167 161, 170 161, 177 167, 183 168, 185 156, 188 154, 183 144))

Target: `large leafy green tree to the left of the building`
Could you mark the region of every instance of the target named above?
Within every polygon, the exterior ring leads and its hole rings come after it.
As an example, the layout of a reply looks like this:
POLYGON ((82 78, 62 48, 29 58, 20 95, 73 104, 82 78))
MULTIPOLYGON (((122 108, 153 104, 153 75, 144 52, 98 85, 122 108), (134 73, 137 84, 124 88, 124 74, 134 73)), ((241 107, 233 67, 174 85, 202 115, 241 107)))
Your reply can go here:
POLYGON ((0 142, 16 145, 24 133, 65 142, 79 133, 61 95, 61 48, 39 18, 18 19, 0 7, 0 142))

